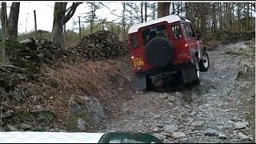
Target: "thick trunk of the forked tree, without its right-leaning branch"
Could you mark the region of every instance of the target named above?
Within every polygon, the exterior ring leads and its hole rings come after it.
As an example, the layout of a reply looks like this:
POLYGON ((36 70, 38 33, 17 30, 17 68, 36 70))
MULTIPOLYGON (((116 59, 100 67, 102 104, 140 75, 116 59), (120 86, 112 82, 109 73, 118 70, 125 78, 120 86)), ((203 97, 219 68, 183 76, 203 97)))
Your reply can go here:
POLYGON ((64 18, 63 2, 55 2, 54 4, 54 26, 51 34, 51 41, 58 47, 63 49, 63 18, 64 18))

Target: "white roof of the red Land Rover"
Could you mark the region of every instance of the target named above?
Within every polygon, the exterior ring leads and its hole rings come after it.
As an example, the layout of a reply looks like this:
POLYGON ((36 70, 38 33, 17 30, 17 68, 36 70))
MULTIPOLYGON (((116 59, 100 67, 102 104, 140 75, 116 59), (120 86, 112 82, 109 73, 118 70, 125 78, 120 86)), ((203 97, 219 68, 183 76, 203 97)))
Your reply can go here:
MULTIPOLYGON (((178 17, 178 15, 168 15, 166 17, 157 18, 148 22, 142 22, 138 24, 134 24, 133 26, 130 26, 130 29, 128 30, 128 34, 135 33, 138 31, 139 28, 144 26, 150 26, 153 24, 156 24, 158 22, 178 22, 178 21, 184 21, 182 18, 178 17)), ((190 22, 188 19, 185 18, 185 22, 190 22)))

